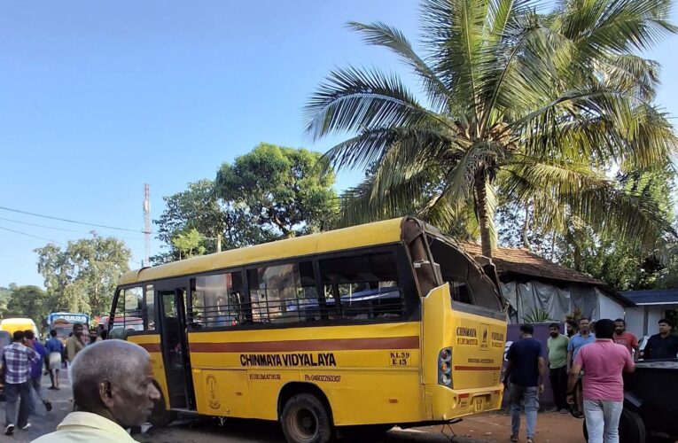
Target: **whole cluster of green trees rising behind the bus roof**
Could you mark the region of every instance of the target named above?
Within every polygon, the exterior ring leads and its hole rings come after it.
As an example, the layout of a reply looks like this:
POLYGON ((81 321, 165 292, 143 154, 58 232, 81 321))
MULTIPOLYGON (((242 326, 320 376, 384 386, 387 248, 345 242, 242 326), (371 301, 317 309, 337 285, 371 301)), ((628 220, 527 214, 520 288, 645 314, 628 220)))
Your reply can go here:
POLYGON ((164 197, 158 226, 165 252, 155 264, 192 255, 258 245, 329 229, 338 198, 334 175, 322 155, 305 149, 259 144, 219 168, 214 181, 189 183, 164 197))

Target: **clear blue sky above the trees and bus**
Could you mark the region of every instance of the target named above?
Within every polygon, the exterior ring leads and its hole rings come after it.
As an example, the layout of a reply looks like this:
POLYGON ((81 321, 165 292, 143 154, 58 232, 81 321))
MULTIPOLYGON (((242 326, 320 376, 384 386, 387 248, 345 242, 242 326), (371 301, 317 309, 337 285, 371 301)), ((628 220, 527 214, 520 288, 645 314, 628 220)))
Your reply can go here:
MULTIPOLYGON (((157 217, 162 196, 214 178, 262 141, 324 152, 333 140, 311 144, 300 110, 331 67, 404 72, 348 20, 385 21, 415 40, 417 2, 0 3, 0 206, 141 231, 144 183, 157 217)), ((649 54, 663 66, 659 103, 673 114, 676 44, 649 54)), ((340 175, 339 188, 357 176, 340 175)), ((0 218, 12 220, 2 228, 62 244, 90 230, 3 210, 0 218)), ((97 232, 123 237, 139 266, 140 232, 97 232)), ((42 285, 33 250, 46 244, 0 229, 0 285, 42 285)))

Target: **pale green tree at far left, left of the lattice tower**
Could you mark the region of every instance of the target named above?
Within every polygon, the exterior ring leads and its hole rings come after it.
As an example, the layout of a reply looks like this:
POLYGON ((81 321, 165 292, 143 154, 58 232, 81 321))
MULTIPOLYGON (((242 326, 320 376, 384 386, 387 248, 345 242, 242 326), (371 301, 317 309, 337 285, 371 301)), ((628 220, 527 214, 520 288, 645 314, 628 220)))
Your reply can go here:
POLYGON ((50 244, 35 252, 50 309, 92 315, 110 309, 118 278, 129 270, 132 256, 123 241, 96 234, 68 242, 63 250, 50 244))

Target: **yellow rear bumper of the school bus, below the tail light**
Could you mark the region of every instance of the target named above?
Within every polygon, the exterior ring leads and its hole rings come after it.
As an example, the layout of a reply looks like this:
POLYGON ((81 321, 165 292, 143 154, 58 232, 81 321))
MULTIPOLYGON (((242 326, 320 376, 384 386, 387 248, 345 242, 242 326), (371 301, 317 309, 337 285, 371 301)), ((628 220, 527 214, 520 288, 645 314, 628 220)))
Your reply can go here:
POLYGON ((452 420, 502 407, 503 385, 455 390, 443 385, 426 385, 426 415, 429 420, 452 420))

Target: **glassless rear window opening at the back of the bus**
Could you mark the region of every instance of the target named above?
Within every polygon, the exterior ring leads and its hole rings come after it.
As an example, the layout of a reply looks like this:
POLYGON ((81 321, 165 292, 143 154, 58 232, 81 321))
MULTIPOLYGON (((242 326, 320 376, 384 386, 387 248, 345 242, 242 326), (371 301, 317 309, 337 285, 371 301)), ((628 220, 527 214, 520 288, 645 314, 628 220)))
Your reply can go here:
POLYGON ((502 310, 495 285, 469 257, 437 238, 433 238, 430 247, 442 280, 449 284, 453 301, 502 310))

